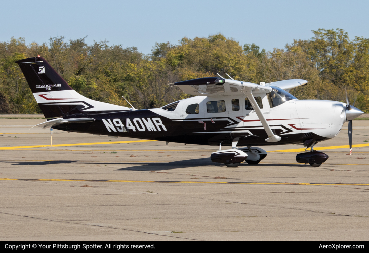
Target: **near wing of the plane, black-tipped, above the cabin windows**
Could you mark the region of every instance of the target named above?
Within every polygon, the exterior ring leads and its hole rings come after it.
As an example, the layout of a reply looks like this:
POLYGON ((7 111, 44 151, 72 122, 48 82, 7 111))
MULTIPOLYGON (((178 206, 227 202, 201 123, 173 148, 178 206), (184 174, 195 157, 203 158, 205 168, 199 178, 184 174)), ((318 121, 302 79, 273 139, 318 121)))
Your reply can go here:
POLYGON ((218 77, 206 77, 175 82, 174 85, 180 88, 184 93, 195 96, 243 95, 251 91, 253 94, 257 94, 267 93, 272 90, 269 86, 218 77))

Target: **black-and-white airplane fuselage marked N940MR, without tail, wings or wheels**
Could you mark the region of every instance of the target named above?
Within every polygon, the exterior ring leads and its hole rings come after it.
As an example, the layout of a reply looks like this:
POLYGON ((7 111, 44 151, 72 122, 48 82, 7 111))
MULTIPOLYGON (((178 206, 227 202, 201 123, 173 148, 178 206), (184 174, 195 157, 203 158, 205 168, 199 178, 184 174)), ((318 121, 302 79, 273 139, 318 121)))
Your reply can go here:
MULTIPOLYGON (((330 139, 346 122, 346 104, 341 102, 294 99, 271 108, 265 95, 257 96, 261 98, 261 110, 272 131, 282 138, 272 145, 303 143, 309 138, 330 139)), ((197 96, 180 100, 173 111, 156 108, 90 114, 95 118, 92 123, 67 123, 54 128, 200 145, 230 146, 235 138, 239 138, 238 146, 271 145, 265 141, 268 136, 255 111, 247 108, 244 101, 245 96, 197 96), (234 99, 241 101, 239 110, 232 107, 234 99), (224 101, 221 112, 209 110, 214 101, 224 101), (195 104, 198 104, 197 113, 187 113, 186 109, 195 104)))

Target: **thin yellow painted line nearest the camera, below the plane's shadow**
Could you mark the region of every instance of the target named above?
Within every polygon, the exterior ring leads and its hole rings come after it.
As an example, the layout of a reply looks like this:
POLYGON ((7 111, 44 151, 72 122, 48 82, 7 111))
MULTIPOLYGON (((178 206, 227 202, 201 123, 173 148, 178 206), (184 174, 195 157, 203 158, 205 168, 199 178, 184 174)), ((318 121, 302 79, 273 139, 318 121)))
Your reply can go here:
POLYGON ((369 186, 369 184, 355 183, 273 183, 273 182, 214 182, 214 181, 156 181, 156 180, 86 180, 86 179, 22 179, 0 178, 0 180, 19 181, 68 181, 68 182, 122 182, 122 183, 186 183, 186 184, 246 184, 246 185, 355 185, 369 186))

